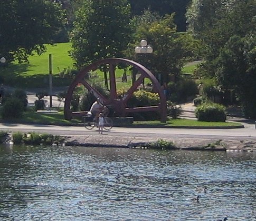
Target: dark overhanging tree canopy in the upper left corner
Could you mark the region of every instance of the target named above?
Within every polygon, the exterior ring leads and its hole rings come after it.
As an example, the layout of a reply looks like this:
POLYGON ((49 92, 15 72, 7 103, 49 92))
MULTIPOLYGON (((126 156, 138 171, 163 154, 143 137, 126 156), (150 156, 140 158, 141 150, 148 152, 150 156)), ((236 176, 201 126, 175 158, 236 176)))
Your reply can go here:
POLYGON ((8 62, 27 62, 27 56, 45 51, 63 25, 60 4, 50 0, 5 0, 0 4, 0 56, 8 62))

